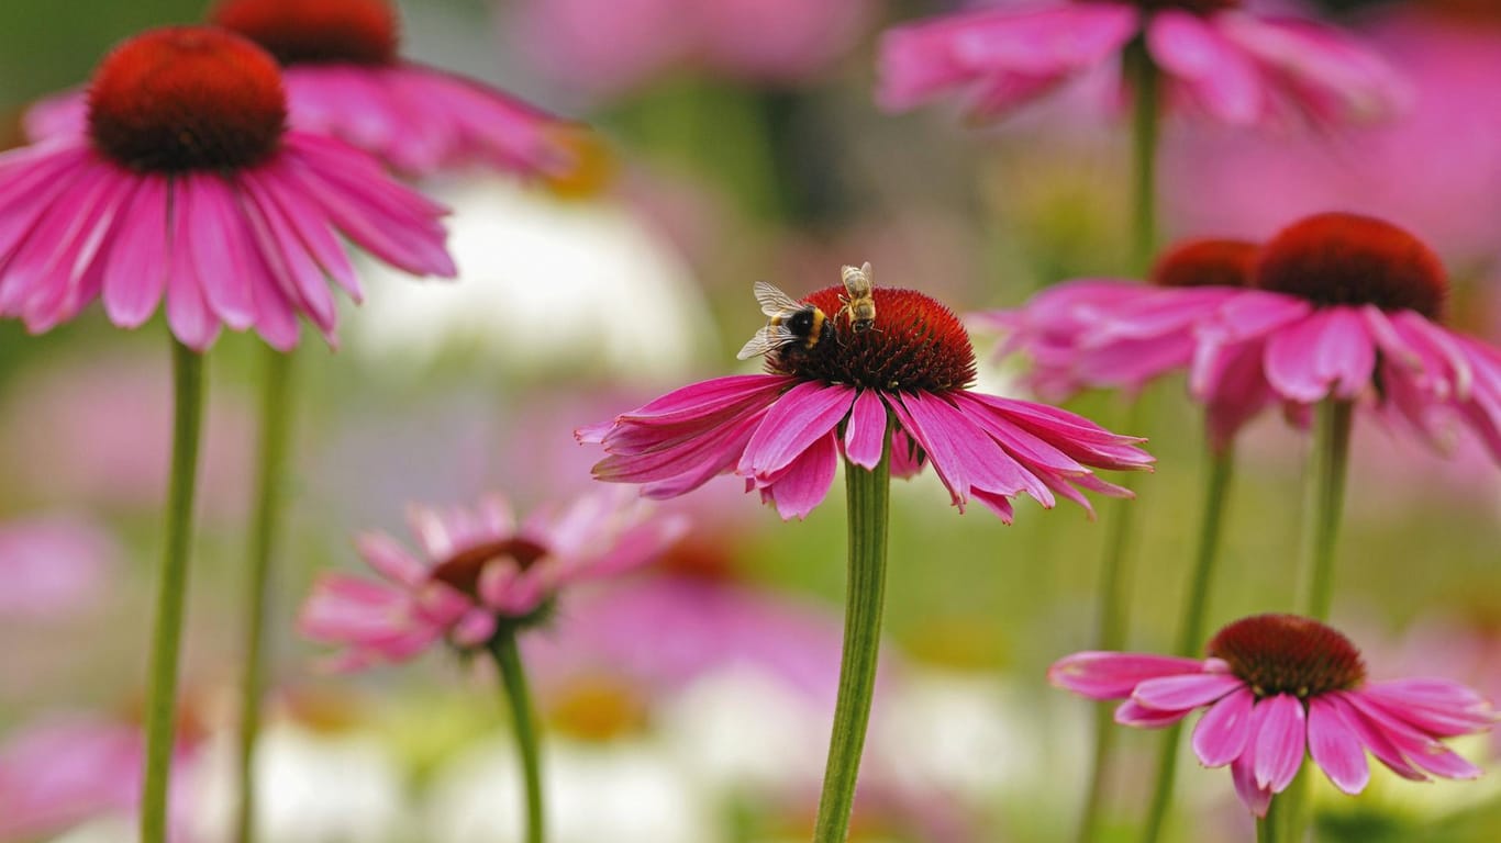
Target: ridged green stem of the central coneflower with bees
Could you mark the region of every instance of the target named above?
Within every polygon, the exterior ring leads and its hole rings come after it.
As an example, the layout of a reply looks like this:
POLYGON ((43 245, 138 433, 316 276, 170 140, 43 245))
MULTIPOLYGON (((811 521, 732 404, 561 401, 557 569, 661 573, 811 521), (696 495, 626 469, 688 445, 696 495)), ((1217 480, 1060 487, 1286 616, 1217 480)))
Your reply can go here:
POLYGON ((850 834, 850 812, 854 808, 865 730, 871 722, 871 696, 875 692, 875 664, 881 645, 890 490, 892 429, 887 422, 881 462, 874 470, 845 462, 850 584, 845 592, 839 698, 835 702, 835 726, 829 736, 829 764, 824 768, 824 789, 818 796, 814 843, 844 843, 850 834))

